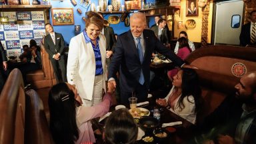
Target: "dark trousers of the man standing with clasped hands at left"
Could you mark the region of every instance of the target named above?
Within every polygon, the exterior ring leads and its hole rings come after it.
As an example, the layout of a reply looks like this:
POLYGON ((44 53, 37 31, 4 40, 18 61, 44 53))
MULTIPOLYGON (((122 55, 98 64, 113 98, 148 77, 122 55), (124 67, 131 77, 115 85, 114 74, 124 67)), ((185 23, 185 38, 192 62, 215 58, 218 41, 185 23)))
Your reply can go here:
POLYGON ((67 70, 66 70, 66 65, 65 65, 65 60, 64 60, 64 55, 61 55, 59 60, 55 60, 53 58, 50 59, 51 65, 53 65, 53 70, 55 74, 55 78, 57 80, 57 83, 61 81, 67 82, 67 70), (59 71, 61 69, 61 71, 59 71), (61 72, 61 75, 59 74, 61 72))

